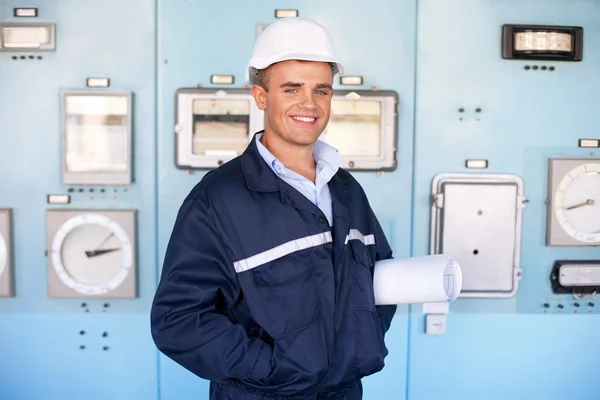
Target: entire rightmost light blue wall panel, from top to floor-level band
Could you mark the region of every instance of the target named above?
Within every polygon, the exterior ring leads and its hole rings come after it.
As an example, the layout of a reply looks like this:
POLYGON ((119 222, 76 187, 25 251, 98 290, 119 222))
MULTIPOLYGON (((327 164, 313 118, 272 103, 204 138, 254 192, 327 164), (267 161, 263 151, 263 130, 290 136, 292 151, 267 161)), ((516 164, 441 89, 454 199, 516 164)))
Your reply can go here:
POLYGON ((593 345, 600 319, 573 315, 597 314, 596 307, 576 308, 572 297, 551 295, 549 275, 556 259, 598 258, 600 250, 546 247, 544 202, 547 158, 588 156, 577 140, 597 137, 599 11, 594 1, 419 1, 413 254, 429 251, 433 178, 470 172, 466 159, 488 159, 483 173, 522 178, 529 203, 514 298, 456 301, 442 336, 424 333, 421 307, 414 307, 410 400, 597 397, 591 360, 600 355, 593 345), (584 61, 503 60, 505 23, 583 26, 584 61), (546 312, 544 302, 551 304, 546 312), (565 315, 543 315, 554 312, 565 315), (577 367, 567 367, 579 353, 585 357, 577 367))

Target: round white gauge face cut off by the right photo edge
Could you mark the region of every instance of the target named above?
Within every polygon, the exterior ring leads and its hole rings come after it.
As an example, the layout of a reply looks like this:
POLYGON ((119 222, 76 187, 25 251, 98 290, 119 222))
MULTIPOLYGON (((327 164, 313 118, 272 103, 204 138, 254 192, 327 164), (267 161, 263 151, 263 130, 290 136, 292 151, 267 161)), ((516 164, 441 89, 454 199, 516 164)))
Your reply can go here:
POLYGON ((565 232, 584 243, 600 243, 600 163, 569 171, 554 196, 554 212, 565 232))

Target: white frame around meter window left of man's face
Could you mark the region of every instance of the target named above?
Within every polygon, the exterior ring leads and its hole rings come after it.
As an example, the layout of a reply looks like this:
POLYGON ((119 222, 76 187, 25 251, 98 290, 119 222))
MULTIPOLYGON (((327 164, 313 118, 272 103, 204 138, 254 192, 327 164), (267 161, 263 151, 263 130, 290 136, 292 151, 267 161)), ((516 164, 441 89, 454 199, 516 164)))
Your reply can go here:
POLYGON ((182 88, 175 94, 175 166, 178 169, 213 169, 239 155, 196 155, 192 153, 193 102, 197 99, 247 100, 250 104, 248 143, 264 129, 264 116, 250 89, 182 88))

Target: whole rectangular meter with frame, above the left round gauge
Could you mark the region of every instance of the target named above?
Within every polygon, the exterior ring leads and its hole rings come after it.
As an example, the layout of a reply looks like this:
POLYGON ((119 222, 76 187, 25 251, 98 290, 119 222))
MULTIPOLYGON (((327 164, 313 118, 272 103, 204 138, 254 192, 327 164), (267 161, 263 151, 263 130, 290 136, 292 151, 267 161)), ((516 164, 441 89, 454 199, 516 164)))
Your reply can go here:
POLYGON ((131 183, 131 97, 130 92, 62 93, 63 183, 131 183))

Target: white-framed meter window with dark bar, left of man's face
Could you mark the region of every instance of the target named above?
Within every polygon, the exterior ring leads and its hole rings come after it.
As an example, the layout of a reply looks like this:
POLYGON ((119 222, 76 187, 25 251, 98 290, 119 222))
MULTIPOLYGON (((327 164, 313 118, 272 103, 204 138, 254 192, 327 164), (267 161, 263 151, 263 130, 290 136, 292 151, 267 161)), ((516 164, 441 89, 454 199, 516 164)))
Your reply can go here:
POLYGON ((249 89, 177 91, 175 164, 179 168, 216 168, 241 155, 264 116, 249 89))

